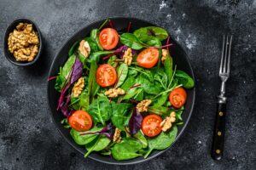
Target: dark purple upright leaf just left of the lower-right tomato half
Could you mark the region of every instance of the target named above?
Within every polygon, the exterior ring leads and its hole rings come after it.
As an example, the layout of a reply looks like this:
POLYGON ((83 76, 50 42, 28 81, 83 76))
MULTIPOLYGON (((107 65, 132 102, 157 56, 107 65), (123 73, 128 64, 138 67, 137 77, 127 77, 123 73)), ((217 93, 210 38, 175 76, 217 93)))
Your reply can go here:
POLYGON ((132 135, 136 134, 142 127, 143 116, 134 107, 129 121, 129 130, 132 135))

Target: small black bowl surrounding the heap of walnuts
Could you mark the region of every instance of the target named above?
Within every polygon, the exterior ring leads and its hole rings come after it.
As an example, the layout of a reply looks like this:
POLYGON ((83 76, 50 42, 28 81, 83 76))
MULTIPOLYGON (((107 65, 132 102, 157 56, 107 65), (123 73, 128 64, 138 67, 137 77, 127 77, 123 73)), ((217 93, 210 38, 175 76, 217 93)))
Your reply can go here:
POLYGON ((8 28, 6 29, 5 31, 5 34, 4 34, 4 38, 3 38, 3 51, 4 51, 4 55, 6 57, 6 59, 9 60, 9 62, 11 62, 12 64, 14 65, 20 65, 20 66, 28 66, 28 65, 32 65, 34 64, 39 56, 42 54, 42 50, 43 49, 43 42, 42 42, 42 37, 41 37, 41 33, 39 31, 39 28, 38 26, 32 21, 32 20, 28 20, 28 19, 18 19, 18 20, 15 20, 13 21, 9 26, 8 28), (39 49, 38 49, 38 54, 37 56, 30 62, 28 61, 17 61, 15 59, 15 56, 13 54, 11 54, 9 52, 9 48, 8 48, 8 38, 9 38, 9 33, 14 31, 16 26, 18 26, 18 24, 20 22, 23 22, 23 23, 28 23, 28 24, 32 24, 33 26, 33 30, 38 32, 38 38, 39 38, 39 49))

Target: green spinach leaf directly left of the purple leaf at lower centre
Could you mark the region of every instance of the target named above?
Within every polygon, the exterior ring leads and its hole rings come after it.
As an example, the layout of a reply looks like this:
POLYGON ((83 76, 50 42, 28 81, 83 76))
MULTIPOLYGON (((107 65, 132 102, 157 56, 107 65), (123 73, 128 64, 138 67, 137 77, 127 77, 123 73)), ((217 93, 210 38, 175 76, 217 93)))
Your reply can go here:
POLYGON ((125 120, 127 119, 127 113, 131 111, 132 105, 126 103, 112 104, 112 116, 111 121, 113 126, 118 127, 120 130, 125 130, 125 120))

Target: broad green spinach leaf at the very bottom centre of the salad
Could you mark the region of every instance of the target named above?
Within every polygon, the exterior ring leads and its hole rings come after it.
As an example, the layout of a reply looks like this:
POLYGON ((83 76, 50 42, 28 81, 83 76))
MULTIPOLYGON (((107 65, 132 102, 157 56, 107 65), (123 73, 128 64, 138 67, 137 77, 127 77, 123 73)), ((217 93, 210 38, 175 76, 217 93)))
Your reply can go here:
POLYGON ((142 149, 142 144, 136 139, 124 139, 113 145, 112 156, 115 160, 129 160, 137 156, 143 156, 137 151, 142 149))

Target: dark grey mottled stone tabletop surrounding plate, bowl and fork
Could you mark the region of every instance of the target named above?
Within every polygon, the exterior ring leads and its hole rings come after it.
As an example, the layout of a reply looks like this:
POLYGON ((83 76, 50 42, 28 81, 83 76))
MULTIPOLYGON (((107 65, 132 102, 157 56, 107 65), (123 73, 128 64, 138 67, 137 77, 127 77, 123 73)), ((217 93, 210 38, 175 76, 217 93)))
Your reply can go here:
POLYGON ((256 169, 256 1, 0 1, 0 169, 256 169), (84 159, 61 137, 46 98, 49 65, 67 38, 90 22, 131 16, 166 28, 195 71, 195 110, 177 143, 133 166, 84 159), (17 18, 34 20, 44 55, 23 68, 3 55, 3 35, 17 18), (234 34, 224 158, 210 156, 224 33, 234 34))

